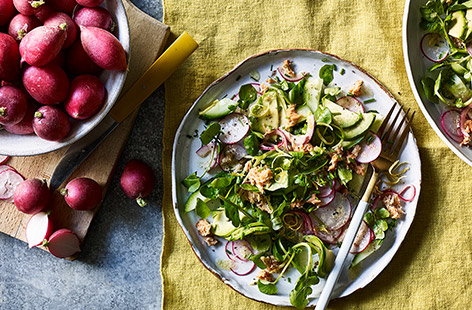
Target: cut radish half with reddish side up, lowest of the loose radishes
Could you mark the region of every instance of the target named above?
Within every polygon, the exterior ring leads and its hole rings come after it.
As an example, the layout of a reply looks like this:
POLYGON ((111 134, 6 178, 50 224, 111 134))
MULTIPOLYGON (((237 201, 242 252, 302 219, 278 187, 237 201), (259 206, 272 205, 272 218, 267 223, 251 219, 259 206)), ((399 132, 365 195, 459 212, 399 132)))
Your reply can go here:
POLYGON ((80 252, 79 237, 65 228, 55 231, 43 245, 58 258, 70 257, 80 252))

